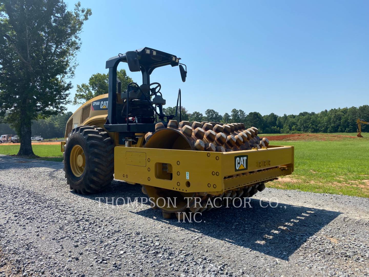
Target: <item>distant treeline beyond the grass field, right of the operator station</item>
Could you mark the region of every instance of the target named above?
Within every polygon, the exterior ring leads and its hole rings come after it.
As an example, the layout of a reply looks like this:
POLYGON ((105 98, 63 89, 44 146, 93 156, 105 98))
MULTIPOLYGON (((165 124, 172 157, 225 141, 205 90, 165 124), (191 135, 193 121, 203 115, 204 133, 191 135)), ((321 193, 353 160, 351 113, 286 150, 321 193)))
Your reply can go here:
MULTIPOLYGON (((175 107, 168 107, 166 114, 175 114, 175 107)), ((231 114, 223 116, 212 109, 205 114, 200 112, 189 113, 182 107, 182 120, 210 121, 223 123, 244 123, 245 126, 257 127, 262 133, 354 133, 356 132, 356 119, 369 120, 369 105, 350 108, 324 110, 320 113, 302 112, 299 114, 284 114, 278 116, 270 113, 262 116, 258 112, 246 114, 243 110, 233 109, 231 114)), ((179 120, 179 113, 176 120, 179 120)), ((363 125, 362 131, 369 131, 369 126, 363 125)))

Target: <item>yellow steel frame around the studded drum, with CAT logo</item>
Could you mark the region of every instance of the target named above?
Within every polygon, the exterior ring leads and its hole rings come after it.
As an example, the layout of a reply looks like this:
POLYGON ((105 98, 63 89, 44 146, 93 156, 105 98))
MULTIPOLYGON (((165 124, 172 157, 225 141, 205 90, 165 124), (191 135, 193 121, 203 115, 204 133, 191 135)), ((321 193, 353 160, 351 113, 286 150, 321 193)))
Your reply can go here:
POLYGON ((294 170, 293 146, 268 146, 233 152, 115 147, 114 178, 181 192, 224 191, 252 185, 294 170), (247 169, 235 169, 237 157, 247 169))

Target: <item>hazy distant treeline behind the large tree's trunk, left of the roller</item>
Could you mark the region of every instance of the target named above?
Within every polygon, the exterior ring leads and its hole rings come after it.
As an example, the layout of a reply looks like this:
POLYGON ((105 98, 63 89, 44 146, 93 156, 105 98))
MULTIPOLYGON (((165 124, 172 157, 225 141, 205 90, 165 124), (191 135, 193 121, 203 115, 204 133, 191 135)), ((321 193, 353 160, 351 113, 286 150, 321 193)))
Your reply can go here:
MULTIPOLYGON (((44 139, 64 137, 67 120, 72 114, 72 112, 67 112, 32 122, 32 136, 42 136, 44 139)), ((15 135, 16 132, 9 126, 9 124, 2 123, 0 124, 0 135, 3 134, 15 135)))

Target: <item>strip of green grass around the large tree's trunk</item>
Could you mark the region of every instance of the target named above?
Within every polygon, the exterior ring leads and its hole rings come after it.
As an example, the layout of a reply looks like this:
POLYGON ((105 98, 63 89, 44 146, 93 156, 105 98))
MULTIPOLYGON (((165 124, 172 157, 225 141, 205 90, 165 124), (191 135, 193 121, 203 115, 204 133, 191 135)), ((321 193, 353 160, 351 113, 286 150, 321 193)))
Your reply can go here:
MULTIPOLYGON (((39 156, 41 160, 63 161, 63 153, 60 152, 60 145, 32 145, 33 153, 39 156)), ((19 151, 19 145, 1 145, 0 154, 16 155, 19 151)))

